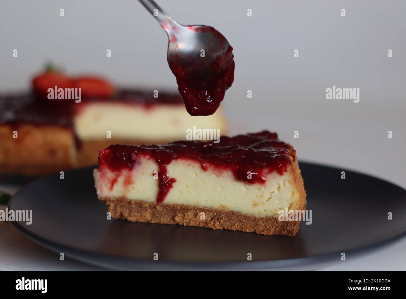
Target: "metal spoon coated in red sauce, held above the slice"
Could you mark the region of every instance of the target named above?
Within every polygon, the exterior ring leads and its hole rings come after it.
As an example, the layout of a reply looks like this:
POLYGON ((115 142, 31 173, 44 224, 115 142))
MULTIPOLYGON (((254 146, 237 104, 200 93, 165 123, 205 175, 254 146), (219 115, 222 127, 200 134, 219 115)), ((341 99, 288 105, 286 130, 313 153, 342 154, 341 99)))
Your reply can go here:
POLYGON ((183 26, 154 1, 139 0, 168 35, 168 64, 186 110, 192 116, 213 114, 234 81, 233 47, 210 26, 183 26))

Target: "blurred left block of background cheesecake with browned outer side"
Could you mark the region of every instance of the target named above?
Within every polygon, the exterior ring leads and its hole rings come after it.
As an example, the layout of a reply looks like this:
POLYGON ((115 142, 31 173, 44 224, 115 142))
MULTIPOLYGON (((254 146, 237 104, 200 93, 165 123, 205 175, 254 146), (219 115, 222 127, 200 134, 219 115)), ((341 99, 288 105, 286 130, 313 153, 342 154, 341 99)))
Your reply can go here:
POLYGON ((76 138, 66 108, 32 94, 0 96, 0 175, 45 175, 75 164, 76 138))

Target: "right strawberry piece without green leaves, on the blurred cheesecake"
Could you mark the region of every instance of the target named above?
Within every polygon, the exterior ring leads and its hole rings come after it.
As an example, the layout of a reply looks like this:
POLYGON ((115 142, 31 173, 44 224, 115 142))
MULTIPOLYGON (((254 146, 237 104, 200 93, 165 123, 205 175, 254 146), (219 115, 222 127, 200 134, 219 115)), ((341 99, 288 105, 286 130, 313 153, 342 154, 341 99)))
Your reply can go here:
POLYGON ((78 77, 73 81, 73 87, 82 89, 83 98, 108 98, 114 93, 114 87, 112 84, 95 76, 78 77))

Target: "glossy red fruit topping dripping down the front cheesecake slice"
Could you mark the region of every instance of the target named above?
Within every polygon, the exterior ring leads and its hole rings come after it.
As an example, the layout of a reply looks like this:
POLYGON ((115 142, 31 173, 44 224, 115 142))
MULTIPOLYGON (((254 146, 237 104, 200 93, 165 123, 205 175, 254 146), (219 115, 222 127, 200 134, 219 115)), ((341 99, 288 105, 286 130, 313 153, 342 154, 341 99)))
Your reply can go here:
MULTIPOLYGON (((99 153, 99 170, 107 167, 113 172, 132 170, 137 156, 153 158, 159 166, 157 204, 162 203, 176 183, 168 177, 166 166, 175 159, 199 162, 203 170, 207 165, 233 172, 235 179, 246 183, 263 184, 266 175, 276 171, 283 175, 295 159, 289 144, 278 140, 276 133, 262 131, 234 137, 221 137, 219 143, 194 140, 177 141, 166 145, 129 146, 113 144, 99 153), (251 172, 251 176, 248 175, 251 172)), ((113 184, 114 185, 114 184, 113 184)))

